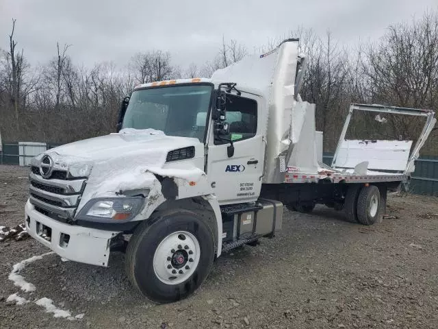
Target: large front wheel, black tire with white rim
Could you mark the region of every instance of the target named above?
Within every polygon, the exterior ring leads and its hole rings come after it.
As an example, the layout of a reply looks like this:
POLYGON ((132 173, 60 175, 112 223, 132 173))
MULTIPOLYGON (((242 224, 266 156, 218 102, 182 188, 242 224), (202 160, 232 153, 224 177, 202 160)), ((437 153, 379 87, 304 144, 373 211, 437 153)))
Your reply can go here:
POLYGON ((193 293, 214 260, 211 230, 194 212, 178 209, 142 223, 127 248, 126 271, 140 292, 168 303, 193 293))

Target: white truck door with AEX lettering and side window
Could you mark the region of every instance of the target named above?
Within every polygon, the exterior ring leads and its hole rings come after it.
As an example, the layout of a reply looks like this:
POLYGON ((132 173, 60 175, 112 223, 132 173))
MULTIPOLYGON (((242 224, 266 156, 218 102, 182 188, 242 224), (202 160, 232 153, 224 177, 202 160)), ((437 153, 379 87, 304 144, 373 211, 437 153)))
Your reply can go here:
POLYGON ((233 156, 227 154, 230 142, 221 141, 210 129, 206 171, 220 204, 253 202, 259 197, 265 147, 257 100, 261 98, 227 94, 229 134, 224 137, 233 141, 233 156))

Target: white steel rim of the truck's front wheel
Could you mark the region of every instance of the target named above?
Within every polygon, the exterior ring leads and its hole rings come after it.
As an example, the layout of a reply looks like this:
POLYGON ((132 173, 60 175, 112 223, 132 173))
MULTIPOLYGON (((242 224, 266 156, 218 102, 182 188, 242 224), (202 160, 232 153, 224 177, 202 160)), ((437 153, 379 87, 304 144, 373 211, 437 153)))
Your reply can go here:
POLYGON ((161 282, 180 284, 192 276, 200 258, 196 236, 186 231, 173 232, 155 249, 153 270, 161 282))

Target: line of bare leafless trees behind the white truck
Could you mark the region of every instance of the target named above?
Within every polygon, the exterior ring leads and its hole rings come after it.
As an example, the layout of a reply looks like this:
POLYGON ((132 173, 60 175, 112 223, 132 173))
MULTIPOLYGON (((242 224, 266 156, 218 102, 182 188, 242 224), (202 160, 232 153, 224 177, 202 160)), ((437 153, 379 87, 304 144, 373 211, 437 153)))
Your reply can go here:
MULTIPOLYGON (((224 40, 206 63, 182 70, 163 50, 139 52, 119 67, 101 62, 85 67, 69 55, 72 45, 56 42, 53 57, 31 65, 25 45, 14 36, 11 22, 7 45, 0 49, 0 132, 3 141, 68 143, 114 132, 120 100, 137 84, 211 73, 251 54, 237 40, 224 40)), ((316 125, 324 132, 324 151, 333 151, 350 103, 379 103, 407 108, 438 108, 438 12, 387 27, 375 42, 355 49, 339 44, 330 32, 318 36, 298 28, 255 52, 273 49, 284 38, 300 38, 308 58, 301 97, 316 104, 316 125)), ((414 139, 421 119, 361 114, 352 121, 356 138, 414 139), (372 136, 371 136, 372 135, 372 136)), ((437 130, 425 147, 438 155, 437 130)), ((424 154, 424 152, 423 152, 424 154)))

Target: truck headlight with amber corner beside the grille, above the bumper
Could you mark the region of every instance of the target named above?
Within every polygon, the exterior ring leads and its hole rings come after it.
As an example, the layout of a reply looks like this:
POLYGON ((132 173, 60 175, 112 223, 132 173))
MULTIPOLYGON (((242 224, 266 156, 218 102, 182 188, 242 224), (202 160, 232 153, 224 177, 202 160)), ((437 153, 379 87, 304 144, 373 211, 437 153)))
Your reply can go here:
POLYGON ((143 203, 143 197, 100 197, 91 199, 79 211, 76 218, 83 221, 103 223, 129 221, 140 212, 143 203))

